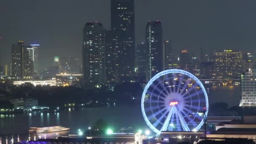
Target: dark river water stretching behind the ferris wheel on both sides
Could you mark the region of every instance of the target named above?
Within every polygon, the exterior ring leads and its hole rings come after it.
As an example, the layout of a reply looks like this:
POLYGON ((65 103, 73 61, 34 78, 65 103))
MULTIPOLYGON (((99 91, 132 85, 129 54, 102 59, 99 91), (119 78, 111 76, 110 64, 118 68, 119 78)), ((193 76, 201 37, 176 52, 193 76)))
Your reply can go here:
MULTIPOLYGON (((227 102, 229 107, 238 106, 240 101, 240 86, 210 86, 209 104, 227 102)), ((121 127, 133 129, 147 128, 141 114, 141 107, 118 105, 116 107, 100 108, 72 108, 59 113, 39 113, 0 115, 0 136, 6 134, 16 137, 17 134, 27 135, 29 127, 46 127, 62 125, 70 128, 70 133, 77 134, 77 130, 86 130, 96 120, 105 119, 114 130, 121 127)))

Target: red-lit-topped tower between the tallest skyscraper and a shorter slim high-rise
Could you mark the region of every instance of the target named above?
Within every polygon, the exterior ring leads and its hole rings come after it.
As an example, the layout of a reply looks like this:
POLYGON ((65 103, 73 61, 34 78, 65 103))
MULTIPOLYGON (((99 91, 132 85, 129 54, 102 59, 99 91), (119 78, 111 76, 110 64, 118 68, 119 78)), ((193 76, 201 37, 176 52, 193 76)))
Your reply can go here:
POLYGON ((149 21, 146 26, 146 48, 149 54, 146 80, 163 71, 163 33, 160 21, 149 21))

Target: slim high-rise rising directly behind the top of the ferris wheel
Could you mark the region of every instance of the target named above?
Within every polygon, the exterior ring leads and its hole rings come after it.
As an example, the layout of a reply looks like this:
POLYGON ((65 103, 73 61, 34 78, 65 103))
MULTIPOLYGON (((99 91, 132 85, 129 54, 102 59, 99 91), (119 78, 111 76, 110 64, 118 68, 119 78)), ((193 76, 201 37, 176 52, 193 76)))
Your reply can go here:
POLYGON ((163 41, 163 70, 172 68, 172 41, 163 41))

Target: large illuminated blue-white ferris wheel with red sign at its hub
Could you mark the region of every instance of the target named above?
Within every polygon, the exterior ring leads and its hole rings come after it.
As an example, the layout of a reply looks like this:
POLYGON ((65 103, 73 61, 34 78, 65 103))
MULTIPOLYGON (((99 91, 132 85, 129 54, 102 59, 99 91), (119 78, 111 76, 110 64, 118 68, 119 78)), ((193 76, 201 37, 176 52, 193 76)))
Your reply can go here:
POLYGON ((191 73, 168 69, 147 83, 141 109, 149 128, 161 131, 198 131, 208 114, 203 84, 191 73))

